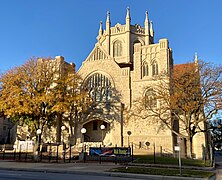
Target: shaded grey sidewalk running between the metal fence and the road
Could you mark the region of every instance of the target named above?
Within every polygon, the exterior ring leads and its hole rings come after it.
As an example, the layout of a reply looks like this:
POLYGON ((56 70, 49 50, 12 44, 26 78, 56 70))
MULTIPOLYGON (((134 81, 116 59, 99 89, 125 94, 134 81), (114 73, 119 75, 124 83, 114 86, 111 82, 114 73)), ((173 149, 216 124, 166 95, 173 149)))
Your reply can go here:
MULTIPOLYGON (((33 172, 48 172, 48 173, 70 173, 70 174, 90 174, 96 176, 112 176, 137 179, 152 179, 152 180, 200 180, 201 178, 174 177, 174 176, 157 176, 144 174, 116 173, 108 172, 112 168, 121 167, 122 165, 102 162, 95 163, 33 163, 33 162, 15 162, 8 160, 0 161, 0 170, 15 170, 15 171, 33 171, 33 172)), ((203 179, 203 178, 202 178, 203 179)))

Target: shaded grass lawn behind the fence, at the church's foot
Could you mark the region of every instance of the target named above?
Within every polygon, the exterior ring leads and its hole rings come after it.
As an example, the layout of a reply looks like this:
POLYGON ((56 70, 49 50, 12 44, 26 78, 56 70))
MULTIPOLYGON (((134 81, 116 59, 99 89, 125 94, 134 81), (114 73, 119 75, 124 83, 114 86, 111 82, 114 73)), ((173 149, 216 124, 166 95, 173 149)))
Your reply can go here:
MULTIPOLYGON (((142 163, 142 164, 154 164, 154 157, 152 155, 135 155, 134 163, 142 163)), ((178 158, 174 157, 155 157, 156 164, 170 164, 170 165, 178 165, 178 158)), ((198 167, 209 167, 209 161, 197 160, 197 159, 181 159, 182 166, 198 166, 198 167)))

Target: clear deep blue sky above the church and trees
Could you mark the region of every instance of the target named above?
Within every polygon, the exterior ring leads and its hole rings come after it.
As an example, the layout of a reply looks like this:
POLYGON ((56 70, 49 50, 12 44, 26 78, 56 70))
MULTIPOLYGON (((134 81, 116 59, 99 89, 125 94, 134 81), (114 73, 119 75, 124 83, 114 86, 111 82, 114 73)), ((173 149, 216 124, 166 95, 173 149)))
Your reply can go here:
POLYGON ((168 38, 174 63, 221 63, 221 0, 0 0, 0 72, 29 58, 62 55, 77 68, 96 43, 99 22, 111 13, 111 25, 153 21, 155 42, 168 38))

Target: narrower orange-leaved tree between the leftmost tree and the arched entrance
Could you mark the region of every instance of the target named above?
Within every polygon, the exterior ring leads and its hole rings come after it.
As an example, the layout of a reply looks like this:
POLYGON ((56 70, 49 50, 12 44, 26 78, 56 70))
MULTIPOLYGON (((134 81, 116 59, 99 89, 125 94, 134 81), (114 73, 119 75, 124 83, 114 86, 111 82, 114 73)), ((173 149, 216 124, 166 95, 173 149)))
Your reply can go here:
MULTIPOLYGON (((63 62, 65 63, 65 62, 63 62)), ((82 88, 81 77, 68 69, 63 69, 55 79, 55 86, 52 89, 54 96, 53 111, 57 113, 57 141, 61 138, 61 123, 67 123, 70 130, 72 144, 76 143, 77 127, 82 114, 91 104, 88 92, 82 88)))

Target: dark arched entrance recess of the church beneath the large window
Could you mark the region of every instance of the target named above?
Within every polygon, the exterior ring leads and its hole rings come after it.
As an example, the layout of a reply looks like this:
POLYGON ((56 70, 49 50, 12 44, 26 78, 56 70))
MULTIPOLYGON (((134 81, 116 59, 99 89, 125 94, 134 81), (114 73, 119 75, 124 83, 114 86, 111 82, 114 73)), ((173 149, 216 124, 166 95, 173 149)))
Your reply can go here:
POLYGON ((104 142, 107 132, 110 131, 110 124, 101 120, 90 121, 83 127, 86 129, 84 142, 104 142), (101 129, 101 125, 104 125, 104 129, 101 129))

